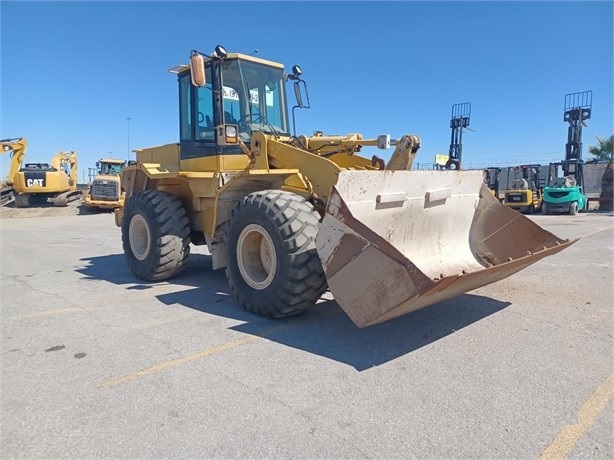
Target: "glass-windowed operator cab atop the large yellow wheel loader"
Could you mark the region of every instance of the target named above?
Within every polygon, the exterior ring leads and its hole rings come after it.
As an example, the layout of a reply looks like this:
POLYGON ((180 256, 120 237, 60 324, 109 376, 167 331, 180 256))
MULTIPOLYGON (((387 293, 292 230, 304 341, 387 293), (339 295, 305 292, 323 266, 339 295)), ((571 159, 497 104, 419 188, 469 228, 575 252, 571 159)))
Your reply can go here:
POLYGON ((282 64, 217 50, 202 56, 198 53, 200 70, 204 68, 198 81, 193 74, 199 69, 170 69, 179 81, 182 159, 244 155, 238 142, 249 148, 256 131, 290 136, 282 64))

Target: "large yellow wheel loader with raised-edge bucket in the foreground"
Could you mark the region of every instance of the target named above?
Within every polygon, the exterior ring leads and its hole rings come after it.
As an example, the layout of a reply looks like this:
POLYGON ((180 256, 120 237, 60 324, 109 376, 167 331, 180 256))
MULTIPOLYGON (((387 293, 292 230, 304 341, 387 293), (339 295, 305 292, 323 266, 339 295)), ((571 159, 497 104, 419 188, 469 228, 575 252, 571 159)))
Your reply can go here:
POLYGON ((206 244, 238 302, 282 318, 330 288, 358 327, 476 289, 555 254, 562 240, 503 206, 482 171, 410 171, 416 135, 297 136, 298 66, 217 46, 170 69, 179 142, 138 149, 115 210, 128 266, 171 278, 206 244), (289 110, 286 83, 297 99, 289 110), (360 155, 390 148, 389 161, 360 155))

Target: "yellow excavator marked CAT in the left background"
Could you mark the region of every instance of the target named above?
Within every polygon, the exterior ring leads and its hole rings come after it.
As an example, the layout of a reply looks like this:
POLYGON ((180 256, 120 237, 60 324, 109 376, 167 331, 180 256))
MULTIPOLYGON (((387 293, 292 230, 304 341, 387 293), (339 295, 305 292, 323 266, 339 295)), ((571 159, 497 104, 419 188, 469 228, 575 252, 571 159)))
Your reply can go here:
POLYGON ((52 203, 68 206, 81 198, 77 190, 77 154, 58 152, 51 163, 23 163, 26 140, 22 138, 1 141, 4 151, 12 151, 11 170, 7 183, 12 186, 15 207, 52 203))

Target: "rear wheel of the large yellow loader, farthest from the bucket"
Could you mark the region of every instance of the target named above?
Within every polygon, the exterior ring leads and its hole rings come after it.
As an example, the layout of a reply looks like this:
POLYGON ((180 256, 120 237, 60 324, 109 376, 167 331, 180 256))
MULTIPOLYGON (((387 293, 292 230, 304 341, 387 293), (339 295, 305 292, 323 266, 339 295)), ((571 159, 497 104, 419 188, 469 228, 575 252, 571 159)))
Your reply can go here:
POLYGON ((170 193, 135 193, 124 210, 122 245, 128 266, 144 281, 179 273, 190 253, 190 225, 181 202, 170 193))

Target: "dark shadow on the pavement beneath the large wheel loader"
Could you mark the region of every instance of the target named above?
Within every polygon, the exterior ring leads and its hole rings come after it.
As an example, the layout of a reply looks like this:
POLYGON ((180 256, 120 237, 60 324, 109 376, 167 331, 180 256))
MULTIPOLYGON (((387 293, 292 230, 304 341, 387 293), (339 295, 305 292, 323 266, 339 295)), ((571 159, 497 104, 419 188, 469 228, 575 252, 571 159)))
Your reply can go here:
POLYGON ((139 282, 130 273, 123 254, 82 259, 78 271, 91 279, 127 290, 155 285, 189 286, 193 289, 156 296, 166 305, 182 305, 203 313, 231 318, 241 324, 232 329, 266 338, 292 348, 345 363, 363 371, 411 353, 470 326, 510 305, 488 297, 465 294, 414 313, 364 329, 357 328, 339 305, 325 294, 305 313, 283 320, 253 315, 230 295, 223 270, 213 271, 211 256, 191 254, 185 270, 177 277, 157 283, 139 282))

